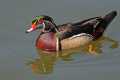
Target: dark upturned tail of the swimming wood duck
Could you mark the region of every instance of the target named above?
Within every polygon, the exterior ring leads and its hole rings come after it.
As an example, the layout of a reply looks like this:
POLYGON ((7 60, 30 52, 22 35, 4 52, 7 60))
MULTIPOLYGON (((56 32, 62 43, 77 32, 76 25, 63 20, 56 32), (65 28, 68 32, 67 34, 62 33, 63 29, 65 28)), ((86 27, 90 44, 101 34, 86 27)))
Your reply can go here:
POLYGON ((99 38, 102 36, 103 32, 107 28, 107 26, 111 23, 111 21, 117 15, 116 11, 111 11, 107 15, 103 16, 102 18, 98 18, 99 24, 95 27, 95 32, 93 32, 93 36, 95 38, 99 38))

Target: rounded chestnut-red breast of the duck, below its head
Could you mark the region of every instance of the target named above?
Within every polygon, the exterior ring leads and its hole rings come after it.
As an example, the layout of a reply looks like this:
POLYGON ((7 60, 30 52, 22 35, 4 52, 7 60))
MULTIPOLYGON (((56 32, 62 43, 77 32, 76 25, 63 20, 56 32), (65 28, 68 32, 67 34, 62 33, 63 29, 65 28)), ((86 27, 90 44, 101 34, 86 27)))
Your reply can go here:
POLYGON ((55 33, 49 32, 40 35, 36 40, 36 47, 45 51, 56 51, 55 33))

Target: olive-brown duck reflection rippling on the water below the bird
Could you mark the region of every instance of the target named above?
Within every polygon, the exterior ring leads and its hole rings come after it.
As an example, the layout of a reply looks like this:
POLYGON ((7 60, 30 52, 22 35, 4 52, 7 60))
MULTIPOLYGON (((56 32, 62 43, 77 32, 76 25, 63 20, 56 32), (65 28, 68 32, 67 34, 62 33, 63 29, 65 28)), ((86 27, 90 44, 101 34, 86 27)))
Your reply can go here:
POLYGON ((85 53, 89 55, 99 55, 103 51, 103 45, 108 43, 111 44, 110 48, 118 48, 118 42, 109 38, 102 36, 100 39, 91 42, 80 48, 75 48, 71 50, 64 50, 61 52, 48 53, 40 49, 36 49, 38 52, 38 58, 29 61, 29 66, 31 67, 34 73, 38 74, 50 74, 54 70, 54 65, 58 59, 63 61, 72 61, 72 55, 85 53))

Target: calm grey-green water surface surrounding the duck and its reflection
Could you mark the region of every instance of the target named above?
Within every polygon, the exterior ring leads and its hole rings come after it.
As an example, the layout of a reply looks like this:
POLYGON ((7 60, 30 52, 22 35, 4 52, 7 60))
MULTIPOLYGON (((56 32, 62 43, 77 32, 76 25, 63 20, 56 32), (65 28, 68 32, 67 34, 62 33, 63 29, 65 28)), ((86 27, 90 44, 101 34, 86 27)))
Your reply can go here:
POLYGON ((26 25, 35 15, 50 15, 57 24, 62 24, 117 10, 118 16, 104 35, 119 42, 119 3, 119 0, 1 0, 0 80, 119 80, 120 50, 109 48, 109 43, 103 44, 100 55, 80 52, 72 54, 69 61, 57 58, 48 74, 37 74, 27 63, 41 57, 34 47, 38 32, 25 34, 26 25))

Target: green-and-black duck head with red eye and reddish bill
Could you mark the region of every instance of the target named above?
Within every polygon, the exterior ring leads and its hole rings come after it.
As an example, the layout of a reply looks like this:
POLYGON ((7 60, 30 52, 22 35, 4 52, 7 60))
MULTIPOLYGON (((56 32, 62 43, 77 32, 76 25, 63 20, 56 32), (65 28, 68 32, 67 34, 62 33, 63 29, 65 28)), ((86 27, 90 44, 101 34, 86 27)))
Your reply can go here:
POLYGON ((45 24, 46 22, 50 23, 53 26, 56 26, 53 19, 50 16, 46 16, 46 15, 36 16, 32 20, 30 28, 26 30, 26 33, 30 33, 30 32, 35 31, 37 29, 40 29, 41 31, 44 32, 45 29, 48 28, 48 26, 46 26, 46 24, 45 24))

